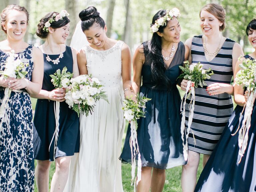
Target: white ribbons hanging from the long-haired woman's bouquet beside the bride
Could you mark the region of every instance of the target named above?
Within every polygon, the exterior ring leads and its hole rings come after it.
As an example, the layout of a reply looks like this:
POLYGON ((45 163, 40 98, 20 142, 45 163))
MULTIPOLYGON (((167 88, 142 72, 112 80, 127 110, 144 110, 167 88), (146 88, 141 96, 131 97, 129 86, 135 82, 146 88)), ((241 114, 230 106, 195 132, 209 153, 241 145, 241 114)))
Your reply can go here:
POLYGON ((131 157, 132 157, 132 183, 134 185, 134 191, 136 191, 136 185, 138 185, 139 181, 141 180, 141 157, 139 151, 139 145, 137 140, 137 121, 131 120, 131 137, 130 137, 130 147, 131 147, 131 157), (135 157, 138 154, 138 168, 137 168, 137 181, 135 185, 135 169, 136 169, 136 160, 135 157))

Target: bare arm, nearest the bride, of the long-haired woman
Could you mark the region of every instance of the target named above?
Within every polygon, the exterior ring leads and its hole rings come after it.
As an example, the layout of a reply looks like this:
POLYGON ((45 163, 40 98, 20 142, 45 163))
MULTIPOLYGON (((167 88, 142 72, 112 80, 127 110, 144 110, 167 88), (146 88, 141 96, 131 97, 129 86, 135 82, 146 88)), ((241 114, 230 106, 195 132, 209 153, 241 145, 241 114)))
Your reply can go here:
POLYGON ((133 56, 133 81, 132 81, 132 89, 135 94, 140 92, 140 85, 141 85, 141 70, 142 66, 145 62, 145 56, 143 51, 143 45, 140 45, 133 56))

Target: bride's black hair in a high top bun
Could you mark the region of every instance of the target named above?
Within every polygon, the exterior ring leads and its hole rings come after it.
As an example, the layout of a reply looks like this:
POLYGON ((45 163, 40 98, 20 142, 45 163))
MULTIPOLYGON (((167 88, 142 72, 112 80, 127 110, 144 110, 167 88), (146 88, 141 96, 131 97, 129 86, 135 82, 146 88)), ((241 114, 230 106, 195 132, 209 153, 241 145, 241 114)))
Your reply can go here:
POLYGON ((88 30, 94 23, 102 28, 105 27, 105 21, 100 17, 100 13, 93 6, 87 7, 79 13, 82 30, 88 30))

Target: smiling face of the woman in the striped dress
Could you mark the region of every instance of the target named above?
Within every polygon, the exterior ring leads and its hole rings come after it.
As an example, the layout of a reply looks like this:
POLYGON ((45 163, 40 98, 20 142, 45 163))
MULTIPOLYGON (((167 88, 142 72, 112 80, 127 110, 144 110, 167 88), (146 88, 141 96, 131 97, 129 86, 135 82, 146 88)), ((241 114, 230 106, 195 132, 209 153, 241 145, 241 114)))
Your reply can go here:
POLYGON ((219 33, 220 26, 223 25, 213 14, 205 10, 202 10, 200 20, 201 29, 206 36, 219 33))

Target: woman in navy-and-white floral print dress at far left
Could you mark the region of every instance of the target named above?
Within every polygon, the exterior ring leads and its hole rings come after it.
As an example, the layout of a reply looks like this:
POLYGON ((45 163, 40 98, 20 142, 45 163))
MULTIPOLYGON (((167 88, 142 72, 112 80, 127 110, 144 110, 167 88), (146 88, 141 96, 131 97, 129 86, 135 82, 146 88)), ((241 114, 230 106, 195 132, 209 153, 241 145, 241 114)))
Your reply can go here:
POLYGON ((0 189, 34 191, 34 153, 31 94, 38 94, 43 81, 42 52, 23 41, 29 14, 24 7, 8 5, 1 13, 1 28, 7 39, 0 42, 0 70, 10 51, 28 63, 23 79, 0 76, 0 99, 3 107, 5 88, 12 89, 5 113, 0 119, 0 189))

